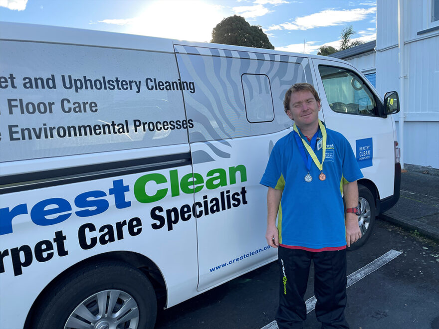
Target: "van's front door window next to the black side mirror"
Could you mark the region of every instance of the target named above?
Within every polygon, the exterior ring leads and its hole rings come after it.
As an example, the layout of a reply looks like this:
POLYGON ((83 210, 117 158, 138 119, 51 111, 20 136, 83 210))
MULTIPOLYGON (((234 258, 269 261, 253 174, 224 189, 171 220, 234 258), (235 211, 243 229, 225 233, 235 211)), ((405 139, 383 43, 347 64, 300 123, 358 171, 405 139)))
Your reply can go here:
POLYGON ((334 112, 378 116, 372 91, 355 72, 319 65, 329 107, 334 112))

